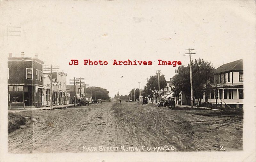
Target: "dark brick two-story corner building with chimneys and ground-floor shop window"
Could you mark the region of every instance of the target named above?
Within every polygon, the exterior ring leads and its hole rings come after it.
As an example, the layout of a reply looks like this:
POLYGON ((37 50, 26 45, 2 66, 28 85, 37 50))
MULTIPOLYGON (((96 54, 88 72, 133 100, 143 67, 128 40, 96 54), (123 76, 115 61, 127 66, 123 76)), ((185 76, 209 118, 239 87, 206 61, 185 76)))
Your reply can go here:
POLYGON ((8 100, 9 105, 42 106, 43 64, 38 54, 35 58, 8 57, 8 100))

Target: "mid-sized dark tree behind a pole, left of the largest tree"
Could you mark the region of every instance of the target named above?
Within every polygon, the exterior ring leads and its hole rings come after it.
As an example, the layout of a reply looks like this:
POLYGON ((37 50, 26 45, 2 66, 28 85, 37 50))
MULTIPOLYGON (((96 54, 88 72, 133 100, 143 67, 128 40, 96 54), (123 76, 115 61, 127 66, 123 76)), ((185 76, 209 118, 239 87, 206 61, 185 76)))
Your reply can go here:
MULTIPOLYGON (((166 80, 164 75, 159 76, 160 89, 163 89, 166 86, 166 80)), ((158 76, 151 76, 146 85, 146 94, 150 97, 153 97, 153 92, 156 97, 156 101, 158 100, 158 76)))

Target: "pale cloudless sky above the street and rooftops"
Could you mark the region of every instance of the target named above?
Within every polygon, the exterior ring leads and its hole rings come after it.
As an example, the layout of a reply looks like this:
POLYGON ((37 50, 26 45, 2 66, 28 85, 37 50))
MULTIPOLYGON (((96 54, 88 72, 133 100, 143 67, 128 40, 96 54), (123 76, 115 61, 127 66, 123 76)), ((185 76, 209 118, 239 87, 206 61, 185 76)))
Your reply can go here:
POLYGON ((158 59, 189 63, 193 59, 224 63, 254 55, 253 1, 5 1, 0 6, 3 55, 34 57, 59 65, 70 78, 89 86, 129 94, 161 70, 166 80, 178 66, 158 59), (20 37, 7 36, 19 26, 20 37), (10 27, 9 27, 10 28, 10 27), (77 59, 79 65, 69 65, 77 59), (108 65, 84 65, 84 59, 108 65), (152 65, 114 66, 117 61, 152 61, 152 65), (124 76, 124 77, 121 77, 124 76))

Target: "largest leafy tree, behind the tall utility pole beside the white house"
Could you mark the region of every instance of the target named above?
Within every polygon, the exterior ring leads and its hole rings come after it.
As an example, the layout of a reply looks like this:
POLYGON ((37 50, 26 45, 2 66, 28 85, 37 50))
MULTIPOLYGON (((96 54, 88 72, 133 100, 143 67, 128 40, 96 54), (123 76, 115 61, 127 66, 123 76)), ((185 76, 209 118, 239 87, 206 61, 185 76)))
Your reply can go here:
MULTIPOLYGON (((204 61, 203 59, 195 59, 192 61, 192 80, 193 80, 193 90, 194 97, 198 99, 201 104, 203 99, 204 91, 206 94, 210 93, 208 91, 210 85, 210 80, 213 80, 214 67, 211 62, 204 61)), ((185 95, 185 98, 188 99, 191 95, 190 91, 190 71, 188 66, 179 66, 178 70, 175 71, 175 75, 172 77, 172 83, 175 86, 174 94, 179 96, 180 91, 185 95)))

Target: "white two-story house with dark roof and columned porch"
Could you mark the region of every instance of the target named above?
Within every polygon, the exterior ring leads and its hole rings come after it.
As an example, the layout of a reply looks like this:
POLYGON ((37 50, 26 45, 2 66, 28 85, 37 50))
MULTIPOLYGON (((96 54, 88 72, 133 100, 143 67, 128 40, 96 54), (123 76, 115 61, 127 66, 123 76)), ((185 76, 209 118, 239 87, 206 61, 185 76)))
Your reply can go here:
POLYGON ((243 107, 243 81, 243 59, 223 64, 215 70, 208 103, 216 104, 217 99, 217 105, 222 107, 243 107))

